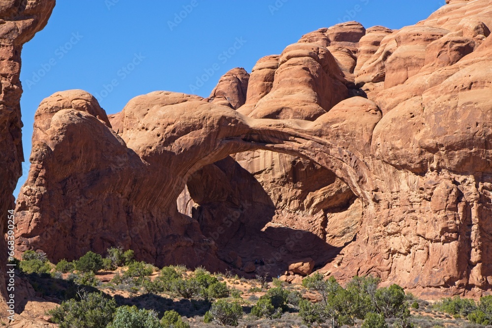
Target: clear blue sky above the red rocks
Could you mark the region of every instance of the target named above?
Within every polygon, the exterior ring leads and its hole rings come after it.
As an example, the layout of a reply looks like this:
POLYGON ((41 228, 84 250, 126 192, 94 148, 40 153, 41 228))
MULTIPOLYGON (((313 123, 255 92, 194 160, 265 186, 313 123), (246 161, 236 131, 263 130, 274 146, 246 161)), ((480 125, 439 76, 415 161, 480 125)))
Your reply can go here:
POLYGON ((57 2, 47 27, 22 52, 23 144, 28 162, 16 197, 29 170, 34 112, 56 91, 87 90, 97 95, 108 114, 120 112, 132 97, 154 90, 206 97, 229 69, 244 67, 250 72, 256 60, 281 53, 309 31, 348 20, 366 28, 399 29, 427 18, 444 4, 444 0, 57 2), (234 46, 238 49, 230 49, 234 46), (210 77, 201 81, 203 86, 197 84, 207 72, 210 77))

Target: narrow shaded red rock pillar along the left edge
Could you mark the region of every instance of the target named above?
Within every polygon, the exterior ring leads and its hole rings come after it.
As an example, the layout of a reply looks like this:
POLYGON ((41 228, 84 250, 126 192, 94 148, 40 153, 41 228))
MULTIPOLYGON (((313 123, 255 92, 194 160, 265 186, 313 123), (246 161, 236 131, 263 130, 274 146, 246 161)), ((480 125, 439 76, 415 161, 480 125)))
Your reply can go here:
MULTIPOLYGON (((5 233, 7 210, 14 209, 17 180, 24 160, 21 143, 22 94, 19 80, 21 51, 24 43, 46 25, 55 0, 0 1, 0 232, 5 233)), ((5 240, 0 238, 0 316, 4 314, 6 286, 5 240)))

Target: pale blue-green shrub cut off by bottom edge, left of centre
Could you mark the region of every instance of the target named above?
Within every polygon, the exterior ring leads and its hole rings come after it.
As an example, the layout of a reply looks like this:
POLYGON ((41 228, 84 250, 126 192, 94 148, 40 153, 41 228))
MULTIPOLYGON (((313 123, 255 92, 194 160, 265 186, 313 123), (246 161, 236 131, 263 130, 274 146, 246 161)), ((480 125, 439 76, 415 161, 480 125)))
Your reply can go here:
POLYGON ((121 306, 116 309, 113 322, 107 328, 161 328, 157 313, 136 306, 121 306))

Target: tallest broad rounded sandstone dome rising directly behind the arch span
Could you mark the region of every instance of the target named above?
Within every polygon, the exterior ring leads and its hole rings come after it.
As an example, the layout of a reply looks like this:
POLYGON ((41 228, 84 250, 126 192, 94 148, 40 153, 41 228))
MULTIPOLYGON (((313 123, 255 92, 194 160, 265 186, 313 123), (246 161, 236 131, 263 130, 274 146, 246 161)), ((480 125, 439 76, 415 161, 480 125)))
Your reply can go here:
POLYGON ((316 43, 292 44, 280 55, 271 91, 249 116, 315 119, 347 96, 344 82, 328 49, 316 43))

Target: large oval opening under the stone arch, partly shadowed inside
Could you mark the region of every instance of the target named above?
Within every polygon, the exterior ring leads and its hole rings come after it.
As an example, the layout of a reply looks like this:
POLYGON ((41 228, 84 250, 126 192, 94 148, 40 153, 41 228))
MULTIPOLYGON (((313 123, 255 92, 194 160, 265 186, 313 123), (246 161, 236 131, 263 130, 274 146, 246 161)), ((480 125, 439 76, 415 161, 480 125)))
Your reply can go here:
POLYGON ((199 223, 234 268, 277 276, 288 264, 330 262, 350 243, 362 202, 334 172, 271 150, 239 152, 204 166, 187 180, 178 209, 199 223))

